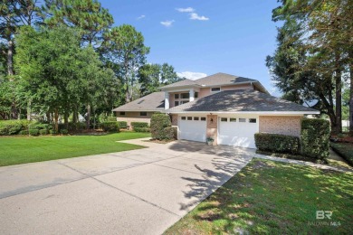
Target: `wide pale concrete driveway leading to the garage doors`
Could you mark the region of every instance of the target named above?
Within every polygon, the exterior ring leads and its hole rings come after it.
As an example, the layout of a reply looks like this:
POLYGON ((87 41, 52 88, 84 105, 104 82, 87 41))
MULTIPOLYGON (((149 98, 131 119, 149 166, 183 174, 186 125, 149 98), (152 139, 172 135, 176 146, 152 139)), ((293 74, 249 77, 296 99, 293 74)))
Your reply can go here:
POLYGON ((254 155, 125 142, 148 148, 0 167, 0 234, 160 234, 254 155))

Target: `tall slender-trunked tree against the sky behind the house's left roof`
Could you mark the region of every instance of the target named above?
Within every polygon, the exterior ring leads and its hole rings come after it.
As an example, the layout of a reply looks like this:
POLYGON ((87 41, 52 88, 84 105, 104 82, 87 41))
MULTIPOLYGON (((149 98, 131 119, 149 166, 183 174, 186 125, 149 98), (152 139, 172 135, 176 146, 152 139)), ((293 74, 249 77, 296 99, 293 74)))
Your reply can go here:
POLYGON ((146 63, 146 55, 149 52, 142 33, 128 24, 113 27, 103 34, 100 52, 105 65, 121 80, 125 101, 131 101, 137 83, 138 68, 146 63))

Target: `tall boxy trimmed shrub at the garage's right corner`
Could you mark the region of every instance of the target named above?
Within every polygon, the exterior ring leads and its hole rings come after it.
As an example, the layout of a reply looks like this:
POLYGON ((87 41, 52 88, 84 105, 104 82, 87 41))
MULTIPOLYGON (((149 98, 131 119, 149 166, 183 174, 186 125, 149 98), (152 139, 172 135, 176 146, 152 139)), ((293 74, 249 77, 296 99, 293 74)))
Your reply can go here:
POLYGON ((305 118, 301 121, 302 155, 326 159, 329 157, 329 121, 305 118))

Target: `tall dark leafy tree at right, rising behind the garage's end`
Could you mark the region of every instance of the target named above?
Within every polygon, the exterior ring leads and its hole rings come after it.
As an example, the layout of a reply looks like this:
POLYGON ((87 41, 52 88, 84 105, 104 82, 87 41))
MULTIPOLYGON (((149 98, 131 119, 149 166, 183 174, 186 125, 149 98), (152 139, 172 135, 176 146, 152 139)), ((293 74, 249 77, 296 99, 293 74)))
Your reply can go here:
POLYGON ((348 0, 281 0, 272 16, 283 22, 278 48, 266 60, 272 79, 294 101, 317 99, 334 132, 341 131, 342 80, 351 64, 351 11, 348 0))

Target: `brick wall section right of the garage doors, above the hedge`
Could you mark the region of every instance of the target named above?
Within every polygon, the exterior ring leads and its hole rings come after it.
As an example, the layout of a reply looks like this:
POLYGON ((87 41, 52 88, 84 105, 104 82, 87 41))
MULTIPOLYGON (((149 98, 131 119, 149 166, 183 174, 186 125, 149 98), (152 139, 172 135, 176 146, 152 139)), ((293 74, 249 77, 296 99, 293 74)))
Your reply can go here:
POLYGON ((301 116, 260 116, 259 131, 287 136, 301 136, 301 116))

